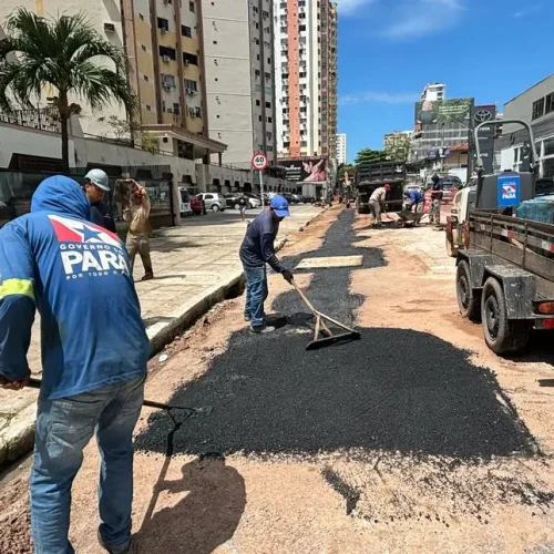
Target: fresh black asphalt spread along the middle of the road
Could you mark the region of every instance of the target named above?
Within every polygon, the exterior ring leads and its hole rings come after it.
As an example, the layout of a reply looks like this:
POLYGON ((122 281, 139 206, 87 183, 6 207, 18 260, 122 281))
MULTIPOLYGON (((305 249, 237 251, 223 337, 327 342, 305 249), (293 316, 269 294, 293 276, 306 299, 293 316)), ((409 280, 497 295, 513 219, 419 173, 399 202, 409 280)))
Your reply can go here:
MULTIPOLYGON (((345 211, 320 249, 286 261, 294 267, 305 257, 362 254, 371 279, 382 253, 356 247, 352 220, 345 211)), ((316 307, 346 324, 363 301, 349 293, 350 270, 316 269, 306 290, 316 307)), ((535 450, 494 376, 474 367, 468 352, 432 335, 387 328, 361 329, 360 341, 306 351, 311 335, 301 301, 287 293, 274 308, 291 316, 288 325, 266 336, 234 334, 208 371, 175 392, 171 403, 215 409, 174 434, 173 452, 356 449, 473 460, 535 450)), ((137 449, 164 453, 172 428, 166 414, 154 413, 137 449)))

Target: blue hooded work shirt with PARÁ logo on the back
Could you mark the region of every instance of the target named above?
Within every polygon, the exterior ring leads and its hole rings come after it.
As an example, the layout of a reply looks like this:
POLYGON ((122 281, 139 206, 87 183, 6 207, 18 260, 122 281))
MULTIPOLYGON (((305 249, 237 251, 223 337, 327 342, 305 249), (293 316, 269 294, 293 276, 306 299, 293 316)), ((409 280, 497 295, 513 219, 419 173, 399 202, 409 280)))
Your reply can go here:
POLYGON ((150 342, 126 250, 90 217, 78 183, 54 176, 34 193, 30 214, 0 230, 0 375, 27 377, 38 309, 48 399, 146 372, 150 342))

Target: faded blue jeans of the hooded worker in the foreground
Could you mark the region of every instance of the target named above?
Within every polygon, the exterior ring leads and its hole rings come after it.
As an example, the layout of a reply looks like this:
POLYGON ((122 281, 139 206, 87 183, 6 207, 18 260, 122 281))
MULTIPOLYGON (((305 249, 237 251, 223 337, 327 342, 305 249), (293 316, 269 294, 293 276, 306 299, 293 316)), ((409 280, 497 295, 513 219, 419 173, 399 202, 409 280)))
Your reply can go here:
POLYGON ((58 400, 39 399, 31 471, 31 527, 37 554, 73 554, 68 538, 71 486, 96 431, 102 456, 100 537, 114 552, 129 545, 133 501, 133 430, 145 377, 58 400))

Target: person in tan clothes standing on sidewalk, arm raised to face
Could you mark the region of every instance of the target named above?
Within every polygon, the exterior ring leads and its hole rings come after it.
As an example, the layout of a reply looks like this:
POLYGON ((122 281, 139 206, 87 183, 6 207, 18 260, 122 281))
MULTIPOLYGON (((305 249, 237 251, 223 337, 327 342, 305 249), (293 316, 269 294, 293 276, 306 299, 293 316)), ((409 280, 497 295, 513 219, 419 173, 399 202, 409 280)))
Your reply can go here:
MULTIPOLYGON (((132 179, 131 179, 132 181, 132 179)), ((150 256, 150 198, 148 192, 143 186, 140 186, 135 181, 133 193, 131 194, 130 204, 123 211, 123 219, 129 223, 127 239, 125 246, 129 252, 131 261, 131 275, 133 275, 136 254, 138 253, 144 266, 144 277, 142 280, 154 278, 152 269, 152 259, 150 256)))

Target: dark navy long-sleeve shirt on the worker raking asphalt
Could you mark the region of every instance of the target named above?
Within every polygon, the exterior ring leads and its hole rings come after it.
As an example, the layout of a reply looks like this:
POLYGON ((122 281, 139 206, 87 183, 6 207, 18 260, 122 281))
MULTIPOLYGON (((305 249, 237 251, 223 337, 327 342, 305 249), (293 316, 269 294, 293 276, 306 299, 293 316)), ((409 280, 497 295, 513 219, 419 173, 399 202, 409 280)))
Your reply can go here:
POLYGON ((285 268, 275 255, 275 237, 279 223, 275 222, 269 209, 259 213, 248 226, 240 245, 240 261, 246 267, 261 267, 269 264, 271 269, 283 273, 285 268))

